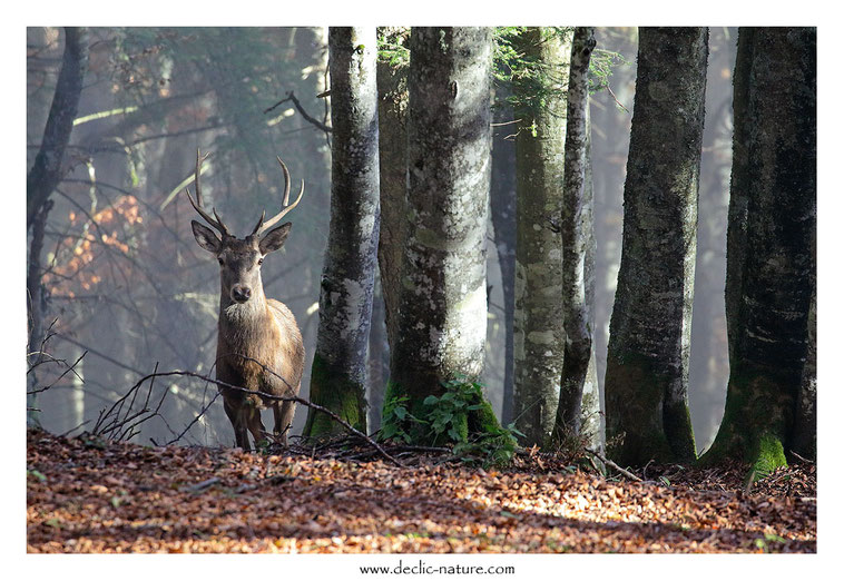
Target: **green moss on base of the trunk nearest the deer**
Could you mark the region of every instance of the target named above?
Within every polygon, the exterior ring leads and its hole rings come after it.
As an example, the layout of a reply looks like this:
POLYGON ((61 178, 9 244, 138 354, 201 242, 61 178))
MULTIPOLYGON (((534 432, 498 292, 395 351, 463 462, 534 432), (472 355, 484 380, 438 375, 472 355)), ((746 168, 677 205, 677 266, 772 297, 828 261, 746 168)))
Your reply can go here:
MULTIPOLYGON (((366 431, 365 387, 345 373, 330 365, 318 354, 311 367, 311 402, 322 405, 349 422, 354 429, 366 431)), ((308 408, 302 431, 306 437, 321 437, 343 432, 343 426, 328 415, 308 408)))

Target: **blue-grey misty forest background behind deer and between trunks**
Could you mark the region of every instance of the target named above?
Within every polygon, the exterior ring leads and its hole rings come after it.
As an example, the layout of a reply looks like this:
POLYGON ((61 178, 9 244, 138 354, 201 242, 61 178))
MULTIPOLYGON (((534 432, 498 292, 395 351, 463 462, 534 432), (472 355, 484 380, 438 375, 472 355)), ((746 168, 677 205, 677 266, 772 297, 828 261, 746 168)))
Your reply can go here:
MULTIPOLYGON (((320 127, 330 122, 330 102, 318 97, 328 88, 326 38, 325 29, 312 28, 91 29, 89 70, 65 160, 72 169, 52 195, 46 227, 45 325, 51 326, 43 351, 50 358, 28 373, 30 386, 51 386, 37 395, 45 429, 90 429, 155 371, 213 375, 219 269, 194 239, 196 214, 183 194, 185 185, 193 189, 197 148, 210 152, 202 175, 206 204, 238 236, 262 210, 272 216, 281 208, 276 155, 291 170, 294 193, 305 180, 305 196, 287 217, 292 233, 267 258, 263 279, 266 295, 285 303, 302 329, 301 395, 307 397, 330 218, 331 136, 320 127)), ((626 61, 614 68, 611 92, 591 98, 602 390, 621 255, 636 28, 598 28, 597 39, 598 50, 626 61)), ((58 28, 27 30, 28 167, 41 140, 62 45, 58 28)), ((724 285, 735 48, 736 29, 710 29, 688 390, 698 450, 711 442, 720 422, 729 371, 724 285)), ((493 136, 507 138, 508 127, 494 127, 493 136)), ((500 411, 503 297, 491 225, 489 233, 483 384, 500 411)), ((148 393, 148 406, 165 398, 133 441, 232 445, 222 398, 208 407, 214 384, 156 377, 137 390, 135 405, 148 393)), ((293 434, 306 415, 297 410, 293 434)))

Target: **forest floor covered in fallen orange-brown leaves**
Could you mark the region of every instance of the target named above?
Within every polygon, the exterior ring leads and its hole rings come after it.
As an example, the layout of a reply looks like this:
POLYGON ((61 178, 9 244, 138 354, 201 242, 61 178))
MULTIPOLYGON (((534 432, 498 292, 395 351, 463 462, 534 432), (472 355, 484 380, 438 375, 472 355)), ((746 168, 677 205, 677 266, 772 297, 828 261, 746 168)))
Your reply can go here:
POLYGON ((816 551, 808 462, 747 486, 739 466, 649 466, 638 472, 645 482, 632 482, 540 454, 507 470, 433 454, 404 454, 406 467, 332 454, 146 447, 30 430, 27 551, 816 551))

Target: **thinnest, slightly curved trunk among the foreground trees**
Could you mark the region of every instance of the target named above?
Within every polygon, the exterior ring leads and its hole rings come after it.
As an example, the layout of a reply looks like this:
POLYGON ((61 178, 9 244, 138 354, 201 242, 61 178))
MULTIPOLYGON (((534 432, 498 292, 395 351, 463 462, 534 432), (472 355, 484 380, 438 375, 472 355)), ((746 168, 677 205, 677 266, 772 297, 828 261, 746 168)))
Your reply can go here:
MULTIPOLYGON (((587 183, 587 129, 589 110, 589 58, 595 29, 578 27, 571 43, 566 170, 562 190, 562 309, 566 347, 560 380, 555 439, 577 439, 581 427, 581 400, 592 360, 592 313, 587 302, 587 256, 593 239, 592 200, 587 183)), ((591 280, 592 289, 595 280, 591 280)), ((593 294, 593 293, 592 293, 593 294)))

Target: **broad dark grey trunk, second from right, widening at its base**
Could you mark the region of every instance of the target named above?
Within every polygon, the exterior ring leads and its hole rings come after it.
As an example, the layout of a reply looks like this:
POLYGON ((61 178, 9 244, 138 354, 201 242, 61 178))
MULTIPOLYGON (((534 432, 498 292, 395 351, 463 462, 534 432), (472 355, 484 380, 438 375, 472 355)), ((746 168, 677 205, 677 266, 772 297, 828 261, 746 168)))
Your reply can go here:
POLYGON ((621 464, 695 459, 687 386, 707 38, 639 30, 605 385, 607 447, 621 464))

